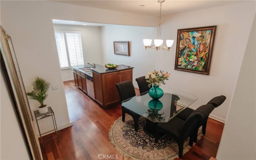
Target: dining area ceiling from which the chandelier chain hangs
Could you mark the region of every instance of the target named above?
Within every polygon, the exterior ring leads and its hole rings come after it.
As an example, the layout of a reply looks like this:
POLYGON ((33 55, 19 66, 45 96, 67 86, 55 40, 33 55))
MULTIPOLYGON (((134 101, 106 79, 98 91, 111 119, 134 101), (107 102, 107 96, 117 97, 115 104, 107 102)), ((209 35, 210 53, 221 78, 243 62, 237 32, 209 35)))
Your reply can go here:
MULTIPOLYGON (((54 2, 100 8, 106 10, 158 16, 160 4, 157 0, 57 0, 54 2), (145 5, 144 7, 140 5, 145 5)), ((162 3, 162 15, 212 8, 221 5, 245 2, 243 0, 166 0, 162 3)))

